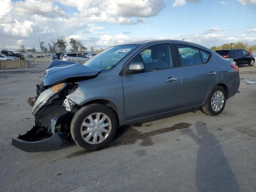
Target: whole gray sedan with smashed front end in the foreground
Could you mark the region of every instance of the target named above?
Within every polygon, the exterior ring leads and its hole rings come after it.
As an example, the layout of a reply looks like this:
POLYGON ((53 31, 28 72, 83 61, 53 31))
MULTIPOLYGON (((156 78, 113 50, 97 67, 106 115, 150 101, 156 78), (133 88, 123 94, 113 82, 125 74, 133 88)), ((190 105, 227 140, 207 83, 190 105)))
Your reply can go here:
POLYGON ((29 100, 35 125, 13 138, 12 145, 36 152, 56 150, 73 139, 94 150, 109 144, 122 125, 195 108, 218 115, 239 85, 232 61, 177 40, 112 46, 83 65, 53 60, 37 86, 36 100, 29 100), (152 60, 144 61, 144 53, 152 60))

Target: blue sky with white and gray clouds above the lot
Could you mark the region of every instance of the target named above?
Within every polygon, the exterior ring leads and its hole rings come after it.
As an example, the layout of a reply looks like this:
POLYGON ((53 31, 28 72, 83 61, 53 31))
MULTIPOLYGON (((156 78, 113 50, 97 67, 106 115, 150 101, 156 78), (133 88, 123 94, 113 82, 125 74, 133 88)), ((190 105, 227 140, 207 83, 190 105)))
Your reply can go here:
POLYGON ((0 0, 0 48, 39 49, 60 36, 89 49, 150 39, 256 44, 256 0, 0 0))

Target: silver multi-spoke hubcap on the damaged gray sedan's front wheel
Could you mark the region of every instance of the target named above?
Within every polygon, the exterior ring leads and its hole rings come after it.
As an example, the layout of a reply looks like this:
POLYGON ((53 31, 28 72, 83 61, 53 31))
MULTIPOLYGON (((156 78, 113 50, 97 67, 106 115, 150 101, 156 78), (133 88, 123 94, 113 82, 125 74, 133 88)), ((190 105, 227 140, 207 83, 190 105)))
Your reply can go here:
POLYGON ((110 118, 104 113, 93 113, 87 116, 81 125, 81 136, 87 143, 99 144, 111 132, 110 118))

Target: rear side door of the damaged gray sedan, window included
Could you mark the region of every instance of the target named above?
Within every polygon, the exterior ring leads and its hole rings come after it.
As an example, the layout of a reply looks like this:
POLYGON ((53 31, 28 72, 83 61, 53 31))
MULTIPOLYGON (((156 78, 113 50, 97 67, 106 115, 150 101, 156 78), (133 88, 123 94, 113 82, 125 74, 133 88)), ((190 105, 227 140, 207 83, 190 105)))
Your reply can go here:
POLYGON ((210 89, 217 82, 218 70, 215 60, 207 50, 190 44, 177 44, 176 48, 181 66, 181 107, 187 108, 202 104, 210 89))

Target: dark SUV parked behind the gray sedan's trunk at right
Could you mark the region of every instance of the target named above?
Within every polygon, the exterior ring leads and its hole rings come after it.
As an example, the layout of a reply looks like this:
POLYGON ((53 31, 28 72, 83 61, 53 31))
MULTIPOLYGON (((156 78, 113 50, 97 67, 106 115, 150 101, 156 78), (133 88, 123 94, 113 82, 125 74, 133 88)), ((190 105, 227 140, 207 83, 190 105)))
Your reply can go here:
POLYGON ((235 65, 248 64, 249 66, 253 66, 255 62, 254 56, 243 49, 216 50, 216 53, 223 58, 233 59, 235 65))

